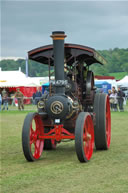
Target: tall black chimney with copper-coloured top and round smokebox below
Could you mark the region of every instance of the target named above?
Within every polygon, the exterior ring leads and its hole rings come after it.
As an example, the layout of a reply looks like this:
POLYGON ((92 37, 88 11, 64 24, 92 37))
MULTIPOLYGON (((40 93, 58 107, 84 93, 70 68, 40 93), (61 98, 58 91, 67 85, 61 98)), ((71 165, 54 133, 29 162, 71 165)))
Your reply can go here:
POLYGON ((46 112, 56 124, 60 124, 66 119, 71 109, 68 97, 65 96, 67 81, 64 77, 64 38, 66 35, 63 31, 55 31, 52 32, 51 37, 53 39, 55 95, 50 96, 46 101, 46 112))

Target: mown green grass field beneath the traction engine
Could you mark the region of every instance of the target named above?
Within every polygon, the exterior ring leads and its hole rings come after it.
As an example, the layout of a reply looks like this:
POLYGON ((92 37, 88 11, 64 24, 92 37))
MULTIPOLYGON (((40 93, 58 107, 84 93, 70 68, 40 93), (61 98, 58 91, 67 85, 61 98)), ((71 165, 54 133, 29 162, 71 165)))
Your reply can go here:
POLYGON ((27 162, 21 146, 27 113, 0 113, 1 193, 128 192, 128 112, 112 112, 110 150, 94 150, 84 164, 76 157, 74 141, 44 151, 37 162, 27 162))

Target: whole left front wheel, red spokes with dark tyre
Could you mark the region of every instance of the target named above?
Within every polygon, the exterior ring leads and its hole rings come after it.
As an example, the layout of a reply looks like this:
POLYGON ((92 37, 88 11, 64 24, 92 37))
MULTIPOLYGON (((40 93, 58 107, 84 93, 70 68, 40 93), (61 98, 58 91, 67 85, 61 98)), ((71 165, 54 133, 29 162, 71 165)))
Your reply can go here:
POLYGON ((38 138, 44 133, 44 127, 38 113, 29 113, 23 124, 22 148, 28 161, 35 161, 41 157, 44 140, 38 138))

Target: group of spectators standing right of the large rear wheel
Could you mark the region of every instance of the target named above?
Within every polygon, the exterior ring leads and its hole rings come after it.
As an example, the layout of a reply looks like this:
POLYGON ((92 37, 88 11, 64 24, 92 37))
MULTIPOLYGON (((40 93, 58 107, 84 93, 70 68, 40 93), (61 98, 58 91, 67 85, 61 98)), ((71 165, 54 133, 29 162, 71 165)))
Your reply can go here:
POLYGON ((115 87, 112 87, 112 90, 108 90, 108 95, 110 99, 110 107, 112 111, 124 111, 123 103, 125 94, 124 92, 118 87, 116 90, 115 87))

